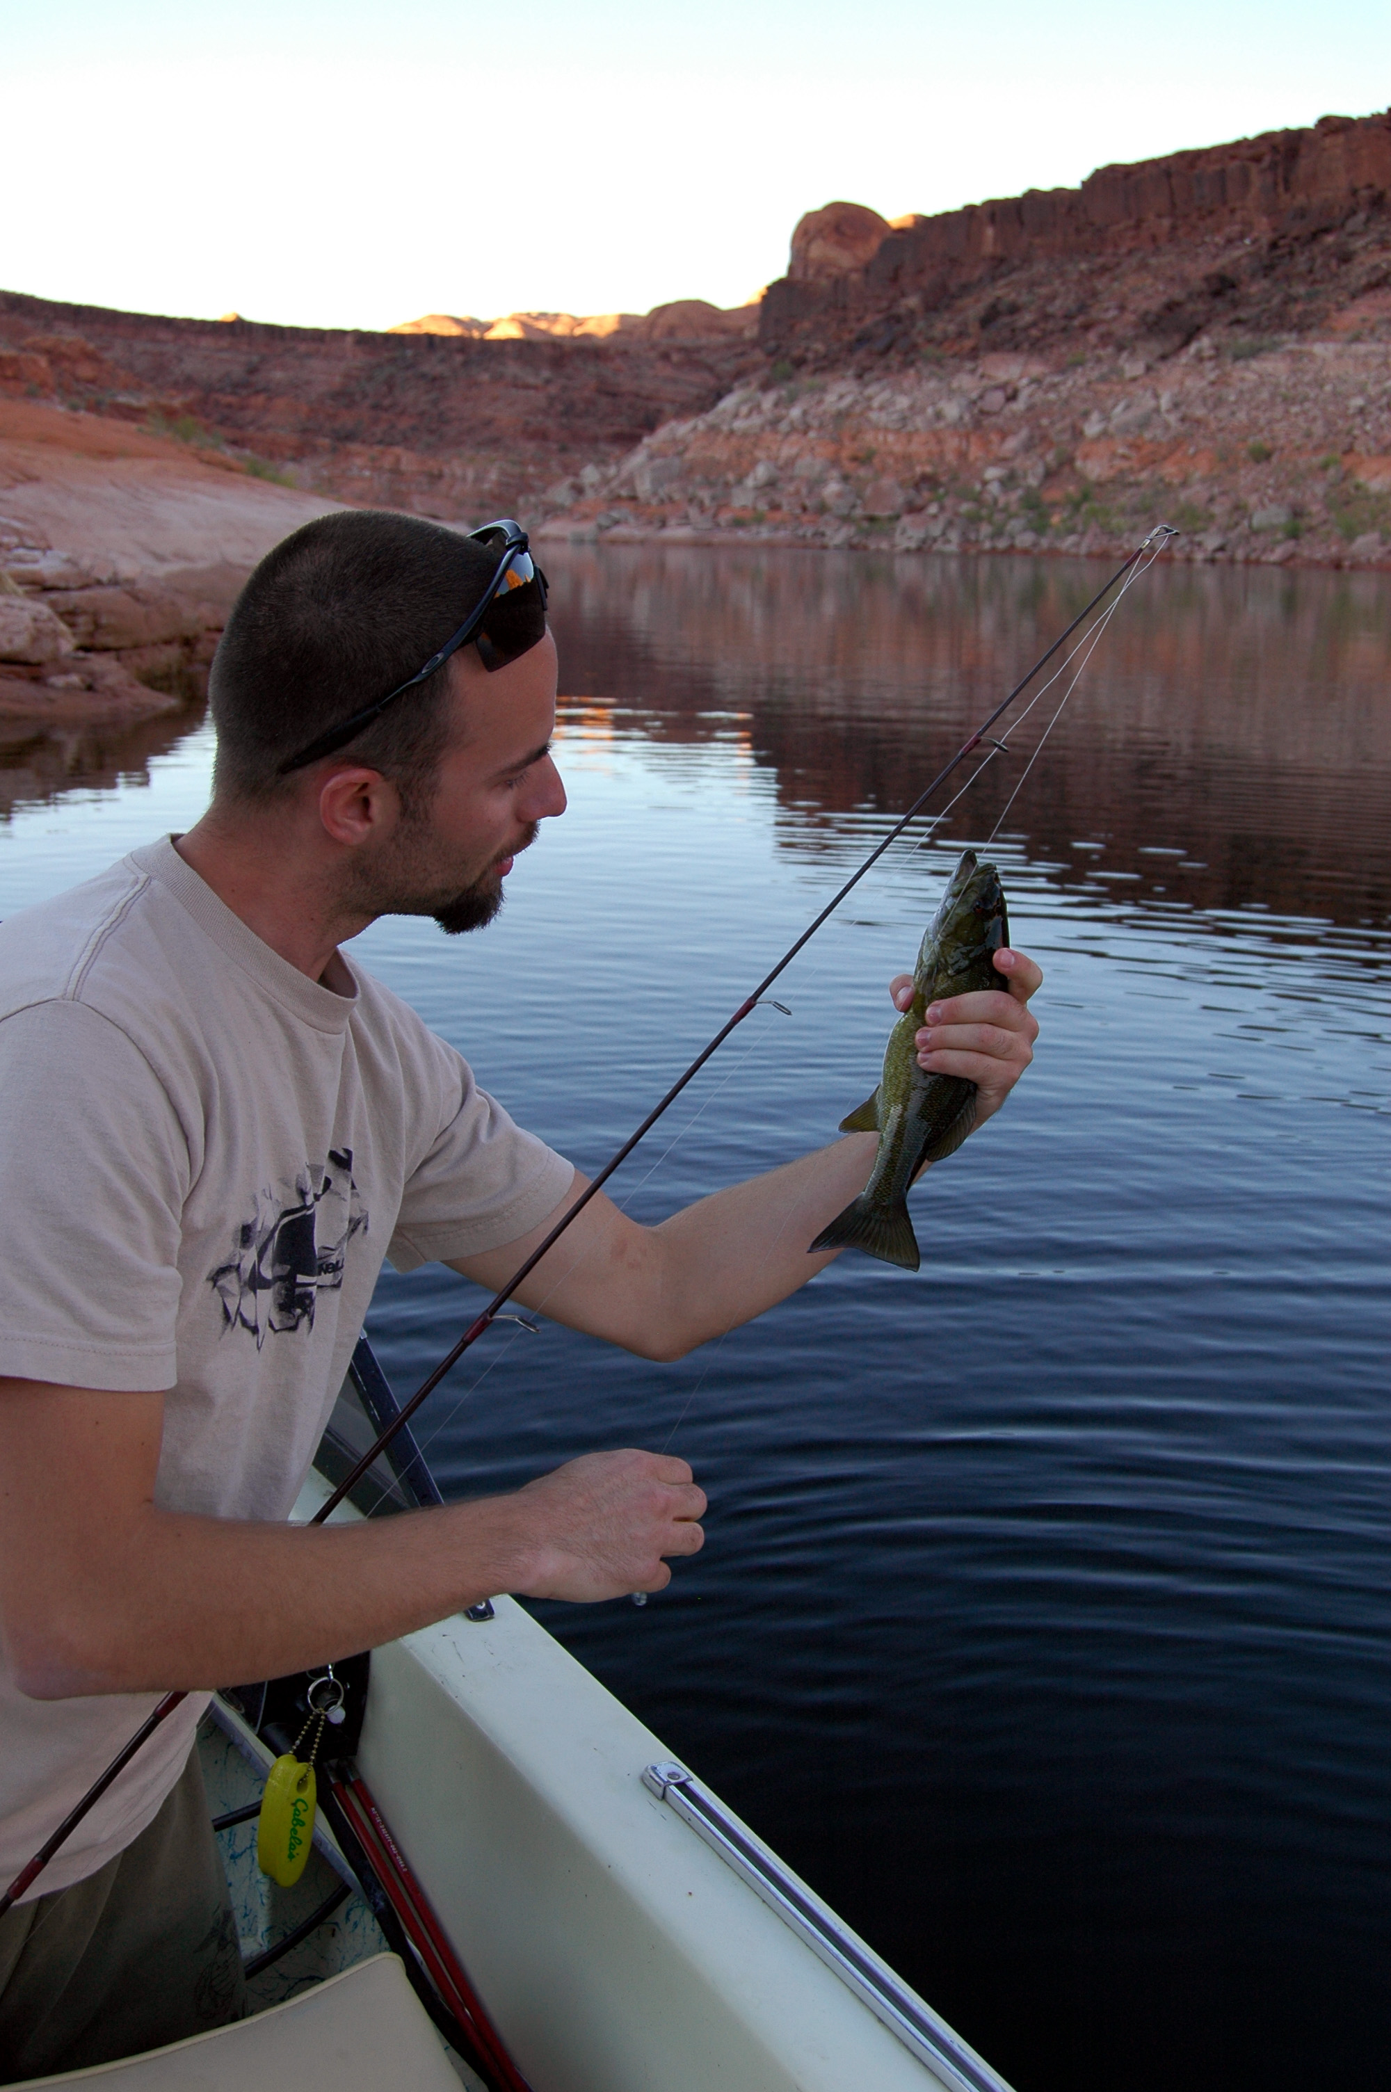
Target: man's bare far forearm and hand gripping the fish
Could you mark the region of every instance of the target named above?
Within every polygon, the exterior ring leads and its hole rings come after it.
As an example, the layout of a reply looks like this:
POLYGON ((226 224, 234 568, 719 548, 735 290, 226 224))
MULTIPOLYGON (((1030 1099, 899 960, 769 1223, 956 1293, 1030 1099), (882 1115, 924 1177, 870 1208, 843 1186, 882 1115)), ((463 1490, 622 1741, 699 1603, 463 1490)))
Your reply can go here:
MULTIPOLYGON (((996 964, 1008 994, 956 996, 935 1006, 918 1033, 918 1063, 927 1071, 975 1082, 977 1125, 1019 1082, 1037 1038, 1027 1002, 1042 981, 1040 969, 1023 952, 998 952, 996 964)), ((891 996, 904 1008, 912 977, 899 975, 891 996)), ((849 1134, 782 1169, 713 1192, 657 1228, 628 1220, 600 1190, 517 1297, 640 1358, 684 1358, 795 1293, 839 1255, 833 1249, 809 1257, 807 1243, 864 1190, 874 1149, 874 1134, 849 1134)), ((577 1174, 540 1228, 485 1255, 460 1257, 454 1270, 489 1291, 506 1284, 586 1184, 577 1174)))

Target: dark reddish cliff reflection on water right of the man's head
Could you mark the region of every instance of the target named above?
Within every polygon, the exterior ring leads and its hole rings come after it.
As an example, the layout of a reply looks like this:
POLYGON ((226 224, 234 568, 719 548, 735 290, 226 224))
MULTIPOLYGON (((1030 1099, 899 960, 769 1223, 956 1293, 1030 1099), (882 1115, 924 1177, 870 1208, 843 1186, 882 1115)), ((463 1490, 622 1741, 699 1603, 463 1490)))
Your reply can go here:
MULTIPOLYGON (((548 554, 563 686, 644 741, 743 741, 778 839, 853 849, 1077 615, 1104 567, 694 548, 548 554)), ((1061 688, 1061 686, 1058 686, 1061 688)), ((958 816, 989 833, 1052 699, 958 816)), ((1127 594, 1006 835, 1058 887, 1391 920, 1385 579, 1157 567, 1127 594)))

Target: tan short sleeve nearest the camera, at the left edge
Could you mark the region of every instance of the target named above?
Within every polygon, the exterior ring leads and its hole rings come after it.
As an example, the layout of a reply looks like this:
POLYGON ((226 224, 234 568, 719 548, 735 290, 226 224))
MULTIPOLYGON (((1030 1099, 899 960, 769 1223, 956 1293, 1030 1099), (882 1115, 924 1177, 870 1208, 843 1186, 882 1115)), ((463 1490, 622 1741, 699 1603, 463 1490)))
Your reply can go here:
POLYGON ((188 1142, 144 1054, 96 1010, 0 1021, 0 1374, 174 1387, 188 1142))

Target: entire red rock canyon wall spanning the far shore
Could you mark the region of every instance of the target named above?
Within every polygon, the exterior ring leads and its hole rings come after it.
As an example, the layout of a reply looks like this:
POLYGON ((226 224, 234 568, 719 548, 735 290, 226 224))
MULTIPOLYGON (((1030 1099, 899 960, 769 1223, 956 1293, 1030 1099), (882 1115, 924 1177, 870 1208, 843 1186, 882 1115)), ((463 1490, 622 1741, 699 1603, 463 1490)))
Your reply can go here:
POLYGON ((1389 197, 1391 115, 1326 117, 935 218, 830 203, 732 312, 364 335, 0 295, 0 400, 174 435, 243 500, 899 550, 1109 552, 1167 515, 1190 556, 1374 565, 1389 197))

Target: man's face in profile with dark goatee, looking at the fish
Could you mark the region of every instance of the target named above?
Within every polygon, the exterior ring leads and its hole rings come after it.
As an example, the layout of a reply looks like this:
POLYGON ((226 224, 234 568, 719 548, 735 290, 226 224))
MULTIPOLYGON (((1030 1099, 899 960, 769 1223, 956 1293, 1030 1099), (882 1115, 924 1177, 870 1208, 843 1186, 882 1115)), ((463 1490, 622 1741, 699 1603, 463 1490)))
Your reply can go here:
POLYGON ((379 914, 429 914, 456 935, 502 908, 512 860, 542 820, 565 812, 550 759, 556 724, 556 649, 550 634, 489 676, 473 646, 452 663, 454 726, 435 793, 402 816, 372 866, 379 914))

